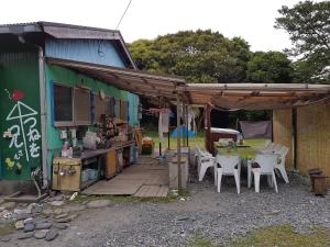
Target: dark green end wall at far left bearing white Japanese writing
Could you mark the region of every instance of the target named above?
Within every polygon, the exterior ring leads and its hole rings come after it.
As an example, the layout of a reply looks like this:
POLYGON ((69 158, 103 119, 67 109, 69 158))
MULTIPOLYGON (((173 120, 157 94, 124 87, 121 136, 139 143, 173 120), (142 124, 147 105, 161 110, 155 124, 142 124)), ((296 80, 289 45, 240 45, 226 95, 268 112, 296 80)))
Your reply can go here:
POLYGON ((0 179, 26 180, 41 167, 41 122, 37 53, 0 50, 0 179), (3 133, 11 130, 11 137, 3 133))

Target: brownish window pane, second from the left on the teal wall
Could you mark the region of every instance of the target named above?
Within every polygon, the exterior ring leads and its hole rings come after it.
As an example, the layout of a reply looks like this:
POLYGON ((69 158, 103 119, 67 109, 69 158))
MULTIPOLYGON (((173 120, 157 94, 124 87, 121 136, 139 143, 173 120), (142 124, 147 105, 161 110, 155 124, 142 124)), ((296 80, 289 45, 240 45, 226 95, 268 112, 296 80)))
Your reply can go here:
POLYGON ((75 125, 90 124, 90 91, 75 89, 75 125))

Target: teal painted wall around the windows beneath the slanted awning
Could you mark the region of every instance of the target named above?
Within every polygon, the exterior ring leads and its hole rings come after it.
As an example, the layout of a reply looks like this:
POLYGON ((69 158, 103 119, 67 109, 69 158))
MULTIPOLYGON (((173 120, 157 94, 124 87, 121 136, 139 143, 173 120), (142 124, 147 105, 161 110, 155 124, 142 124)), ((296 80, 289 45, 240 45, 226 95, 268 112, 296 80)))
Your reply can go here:
MULTIPOLYGON (((106 96, 108 97, 113 97, 113 98, 129 101, 130 123, 139 124, 139 120, 138 120, 139 97, 138 96, 123 90, 119 90, 112 86, 109 86, 101 81, 78 74, 74 70, 66 69, 59 66, 46 65, 45 74, 46 74, 47 145, 48 145, 47 164, 50 168, 52 167, 53 156, 56 154, 56 151, 59 151, 62 149, 62 145, 63 145, 63 142, 59 138, 58 128, 54 127, 52 124, 52 103, 51 103, 52 82, 62 83, 70 87, 75 87, 76 85, 85 85, 96 93, 98 93, 99 90, 102 89, 106 96)), ((52 169, 48 169, 48 171, 51 176, 52 169)))

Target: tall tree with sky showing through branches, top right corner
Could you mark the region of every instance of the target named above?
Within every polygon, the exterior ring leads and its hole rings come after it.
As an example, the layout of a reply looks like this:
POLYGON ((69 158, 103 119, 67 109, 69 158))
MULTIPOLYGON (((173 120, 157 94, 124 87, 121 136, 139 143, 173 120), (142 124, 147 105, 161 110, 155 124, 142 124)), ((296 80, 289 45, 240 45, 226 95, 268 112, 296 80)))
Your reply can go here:
POLYGON ((276 19, 277 29, 290 35, 294 47, 287 49, 297 56, 296 80, 300 82, 330 81, 330 2, 299 2, 293 8, 282 7, 276 19), (300 67, 301 66, 301 67, 300 67))

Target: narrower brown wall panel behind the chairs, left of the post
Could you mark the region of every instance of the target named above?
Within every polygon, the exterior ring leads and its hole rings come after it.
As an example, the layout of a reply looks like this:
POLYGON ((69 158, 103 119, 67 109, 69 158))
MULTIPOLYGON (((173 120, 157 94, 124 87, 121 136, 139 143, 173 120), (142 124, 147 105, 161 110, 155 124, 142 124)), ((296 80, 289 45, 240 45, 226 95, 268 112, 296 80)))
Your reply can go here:
POLYGON ((273 111, 273 139, 289 148, 285 165, 287 170, 293 169, 293 112, 290 109, 273 111))

